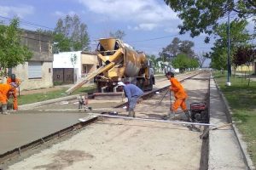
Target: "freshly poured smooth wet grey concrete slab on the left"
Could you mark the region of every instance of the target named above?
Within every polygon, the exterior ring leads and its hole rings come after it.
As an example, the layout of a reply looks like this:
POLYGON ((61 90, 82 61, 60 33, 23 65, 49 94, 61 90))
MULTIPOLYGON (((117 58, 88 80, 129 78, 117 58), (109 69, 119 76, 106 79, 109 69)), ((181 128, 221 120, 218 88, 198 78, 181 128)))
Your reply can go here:
POLYGON ((85 115, 85 113, 0 114, 0 155, 72 126, 85 115))

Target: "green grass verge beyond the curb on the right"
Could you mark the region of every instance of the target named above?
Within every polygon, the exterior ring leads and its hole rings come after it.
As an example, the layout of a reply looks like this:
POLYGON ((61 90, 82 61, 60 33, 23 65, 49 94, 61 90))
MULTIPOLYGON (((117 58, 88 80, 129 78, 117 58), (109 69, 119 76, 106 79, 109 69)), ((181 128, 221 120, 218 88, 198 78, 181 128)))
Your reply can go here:
POLYGON ((247 151, 256 165, 256 82, 247 85, 243 77, 230 77, 231 86, 225 86, 227 75, 214 72, 214 78, 218 82, 221 91, 231 107, 232 119, 247 142, 247 151))

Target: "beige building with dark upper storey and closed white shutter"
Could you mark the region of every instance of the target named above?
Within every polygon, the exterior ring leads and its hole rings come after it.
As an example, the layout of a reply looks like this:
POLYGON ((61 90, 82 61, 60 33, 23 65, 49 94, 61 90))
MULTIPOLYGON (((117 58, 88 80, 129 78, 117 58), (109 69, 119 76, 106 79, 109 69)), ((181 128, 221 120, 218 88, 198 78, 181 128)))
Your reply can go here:
POLYGON ((23 31, 21 43, 32 51, 32 59, 11 70, 21 80, 20 91, 52 87, 52 37, 36 31, 23 31))

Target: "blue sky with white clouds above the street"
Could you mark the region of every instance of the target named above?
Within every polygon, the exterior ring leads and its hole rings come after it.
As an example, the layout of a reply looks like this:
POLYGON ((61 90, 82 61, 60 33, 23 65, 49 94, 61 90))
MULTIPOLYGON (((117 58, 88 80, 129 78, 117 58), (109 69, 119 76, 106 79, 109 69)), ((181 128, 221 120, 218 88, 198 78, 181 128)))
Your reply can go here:
POLYGON ((122 30, 124 42, 146 54, 159 54, 174 37, 195 42, 195 52, 208 52, 212 44, 204 36, 192 39, 189 34, 178 35, 177 18, 164 0, 1 0, 0 20, 8 23, 15 15, 20 27, 53 30, 56 21, 67 14, 78 14, 88 26, 91 48, 96 39, 108 37, 109 32, 122 30))

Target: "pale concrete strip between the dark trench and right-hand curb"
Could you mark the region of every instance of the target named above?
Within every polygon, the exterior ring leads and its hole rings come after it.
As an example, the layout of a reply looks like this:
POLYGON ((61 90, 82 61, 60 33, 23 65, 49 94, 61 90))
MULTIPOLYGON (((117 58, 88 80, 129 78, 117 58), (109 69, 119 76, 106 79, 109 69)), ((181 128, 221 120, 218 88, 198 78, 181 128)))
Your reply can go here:
MULTIPOLYGON (((210 81, 210 123, 228 123, 224 101, 218 93, 213 79, 210 81)), ((247 165, 242 156, 236 134, 231 127, 212 130, 209 133, 208 169, 245 170, 247 165)))

